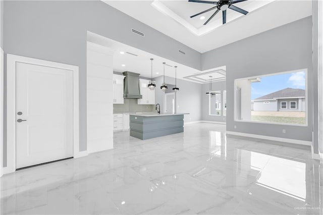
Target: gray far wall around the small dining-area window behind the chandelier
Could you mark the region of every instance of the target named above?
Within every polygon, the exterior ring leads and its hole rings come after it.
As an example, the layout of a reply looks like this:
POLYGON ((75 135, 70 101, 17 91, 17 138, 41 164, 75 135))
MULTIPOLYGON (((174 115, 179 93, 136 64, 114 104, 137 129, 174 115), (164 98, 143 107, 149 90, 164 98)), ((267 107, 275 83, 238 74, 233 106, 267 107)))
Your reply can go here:
MULTIPOLYGON (((226 116, 223 116, 223 90, 226 89, 226 81, 219 81, 212 83, 212 91, 221 90, 221 116, 209 116, 208 115, 208 95, 205 93, 210 89, 209 83, 202 84, 202 93, 201 93, 201 120, 202 121, 214 121, 214 122, 226 122, 226 116)), ((228 92, 227 92, 228 97, 228 92)), ((227 98, 227 106, 228 106, 228 98, 227 98)), ((227 115, 228 115, 227 109, 227 115)))

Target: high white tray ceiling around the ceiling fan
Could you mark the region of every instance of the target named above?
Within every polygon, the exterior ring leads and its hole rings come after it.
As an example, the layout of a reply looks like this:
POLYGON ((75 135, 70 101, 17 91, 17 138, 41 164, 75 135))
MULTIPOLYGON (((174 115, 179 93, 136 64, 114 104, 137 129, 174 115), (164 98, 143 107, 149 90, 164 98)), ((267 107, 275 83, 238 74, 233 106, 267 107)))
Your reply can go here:
POLYGON ((201 53, 312 14, 311 0, 248 0, 235 4, 249 11, 246 16, 228 10, 227 24, 222 25, 222 15, 219 13, 203 26, 212 12, 205 13, 204 20, 200 20, 200 16, 189 17, 212 5, 187 0, 103 2, 201 53))

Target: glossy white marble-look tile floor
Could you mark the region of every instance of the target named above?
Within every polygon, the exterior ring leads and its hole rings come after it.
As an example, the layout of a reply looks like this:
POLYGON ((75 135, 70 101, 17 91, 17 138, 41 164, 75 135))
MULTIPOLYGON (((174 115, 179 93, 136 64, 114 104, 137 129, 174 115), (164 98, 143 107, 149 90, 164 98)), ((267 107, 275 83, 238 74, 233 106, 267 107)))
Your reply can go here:
POLYGON ((5 175, 1 214, 323 214, 309 147, 184 130, 5 175))

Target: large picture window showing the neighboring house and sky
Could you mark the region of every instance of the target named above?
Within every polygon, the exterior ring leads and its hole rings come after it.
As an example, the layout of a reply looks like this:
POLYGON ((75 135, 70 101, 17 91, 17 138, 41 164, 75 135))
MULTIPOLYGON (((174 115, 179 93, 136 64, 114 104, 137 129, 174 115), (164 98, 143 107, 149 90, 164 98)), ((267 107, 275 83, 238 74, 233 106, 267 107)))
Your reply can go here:
POLYGON ((236 121, 307 126, 307 70, 236 79, 234 102, 236 121))

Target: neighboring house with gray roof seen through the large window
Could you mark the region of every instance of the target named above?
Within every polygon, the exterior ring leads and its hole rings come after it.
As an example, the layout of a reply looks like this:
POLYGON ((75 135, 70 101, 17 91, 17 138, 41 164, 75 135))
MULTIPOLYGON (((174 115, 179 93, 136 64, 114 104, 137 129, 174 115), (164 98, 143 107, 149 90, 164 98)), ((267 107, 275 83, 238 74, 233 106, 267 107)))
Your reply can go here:
POLYGON ((286 88, 251 102, 253 111, 305 111, 305 90, 286 88))

